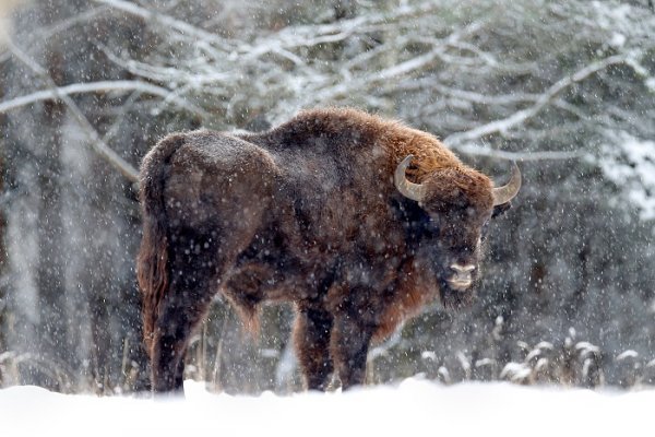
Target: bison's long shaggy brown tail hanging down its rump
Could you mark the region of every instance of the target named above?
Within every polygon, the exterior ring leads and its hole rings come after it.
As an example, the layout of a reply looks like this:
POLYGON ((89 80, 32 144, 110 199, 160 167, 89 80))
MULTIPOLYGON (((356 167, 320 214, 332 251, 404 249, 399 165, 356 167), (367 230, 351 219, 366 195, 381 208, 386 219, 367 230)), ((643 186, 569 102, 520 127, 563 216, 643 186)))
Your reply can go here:
POLYGON ((170 157, 183 142, 184 138, 180 134, 165 138, 145 155, 141 165, 143 236, 136 261, 136 275, 143 293, 143 335, 151 356, 159 306, 168 292, 168 227, 164 182, 170 157))

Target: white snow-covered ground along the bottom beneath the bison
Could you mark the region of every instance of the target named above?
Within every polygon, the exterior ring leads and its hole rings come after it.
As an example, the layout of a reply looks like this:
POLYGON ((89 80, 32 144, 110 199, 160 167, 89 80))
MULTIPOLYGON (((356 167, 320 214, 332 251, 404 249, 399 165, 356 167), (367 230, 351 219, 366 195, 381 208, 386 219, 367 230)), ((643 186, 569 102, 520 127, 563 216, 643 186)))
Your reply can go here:
POLYGON ((655 428, 655 390, 579 389, 408 379, 346 393, 257 398, 211 394, 187 381, 187 399, 64 395, 0 390, 2 436, 627 436, 655 428))

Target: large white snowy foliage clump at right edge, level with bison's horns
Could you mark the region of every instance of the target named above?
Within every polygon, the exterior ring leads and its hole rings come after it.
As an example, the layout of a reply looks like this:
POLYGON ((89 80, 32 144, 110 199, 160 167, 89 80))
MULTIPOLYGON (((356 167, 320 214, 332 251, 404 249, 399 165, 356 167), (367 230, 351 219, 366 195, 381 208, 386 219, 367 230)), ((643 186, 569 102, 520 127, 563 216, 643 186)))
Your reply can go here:
POLYGON ((627 199, 641 211, 641 218, 655 218, 655 141, 643 141, 619 132, 606 144, 599 165, 605 175, 623 188, 627 199))

